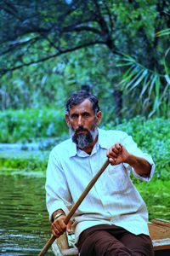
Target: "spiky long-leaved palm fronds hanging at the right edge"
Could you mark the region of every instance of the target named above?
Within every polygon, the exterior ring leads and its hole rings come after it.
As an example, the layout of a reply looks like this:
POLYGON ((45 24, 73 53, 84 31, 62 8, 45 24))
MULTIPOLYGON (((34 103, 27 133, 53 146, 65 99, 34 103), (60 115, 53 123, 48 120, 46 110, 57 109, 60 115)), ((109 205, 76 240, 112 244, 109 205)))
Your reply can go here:
POLYGON ((117 64, 118 67, 126 66, 128 68, 117 87, 126 91, 127 99, 129 96, 132 99, 133 112, 138 109, 137 111, 142 115, 147 113, 149 118, 153 115, 168 117, 170 78, 166 62, 164 62, 165 73, 161 75, 141 66, 131 56, 125 55, 119 60, 122 62, 117 64), (135 104, 133 104, 134 98, 136 99, 135 104))

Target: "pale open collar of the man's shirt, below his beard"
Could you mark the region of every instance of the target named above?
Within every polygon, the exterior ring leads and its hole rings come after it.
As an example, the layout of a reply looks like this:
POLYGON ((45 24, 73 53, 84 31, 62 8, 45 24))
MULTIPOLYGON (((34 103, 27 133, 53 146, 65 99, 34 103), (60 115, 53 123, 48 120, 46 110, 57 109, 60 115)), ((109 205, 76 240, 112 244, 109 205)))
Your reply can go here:
MULTIPOLYGON (((105 131, 102 130, 102 129, 99 129, 99 128, 98 128, 98 131, 99 131, 98 141, 95 145, 99 144, 100 148, 106 148, 107 149, 108 147, 107 147, 107 143, 106 143, 105 136, 104 136, 105 131)), ((69 157, 72 157, 72 156, 77 155, 79 150, 77 149, 76 143, 73 143, 71 139, 70 139, 70 142, 71 143, 70 143, 69 148, 68 148, 69 149, 69 157)))

